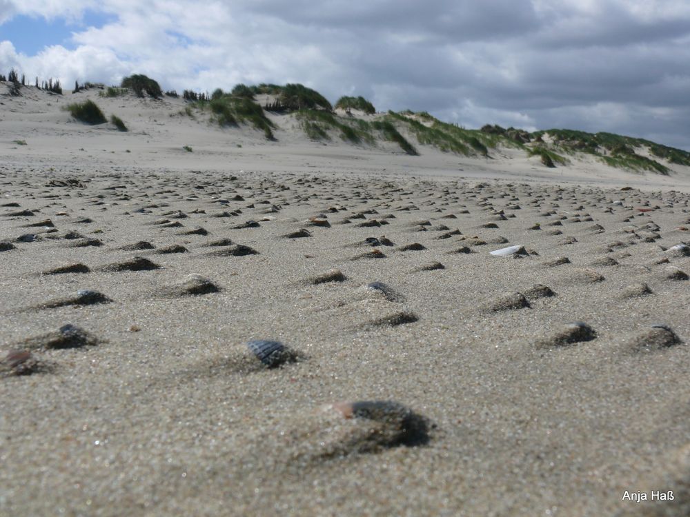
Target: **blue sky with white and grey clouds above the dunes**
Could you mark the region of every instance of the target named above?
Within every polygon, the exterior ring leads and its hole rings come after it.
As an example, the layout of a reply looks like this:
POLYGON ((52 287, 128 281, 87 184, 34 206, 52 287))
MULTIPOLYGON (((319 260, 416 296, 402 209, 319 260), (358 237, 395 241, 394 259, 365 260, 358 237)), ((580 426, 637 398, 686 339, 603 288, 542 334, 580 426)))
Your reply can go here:
MULTIPOLYGON (((690 150, 688 0, 0 0, 0 71, 299 82, 445 121, 690 150)), ((32 79, 33 80, 33 79, 32 79)))

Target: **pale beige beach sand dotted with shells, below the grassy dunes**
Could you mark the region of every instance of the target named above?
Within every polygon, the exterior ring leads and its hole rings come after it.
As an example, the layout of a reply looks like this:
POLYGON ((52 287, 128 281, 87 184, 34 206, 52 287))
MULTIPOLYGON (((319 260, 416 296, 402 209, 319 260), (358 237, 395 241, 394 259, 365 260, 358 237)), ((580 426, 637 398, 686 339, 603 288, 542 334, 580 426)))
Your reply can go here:
POLYGON ((685 172, 34 97, 0 99, 0 514, 689 514, 685 172))

